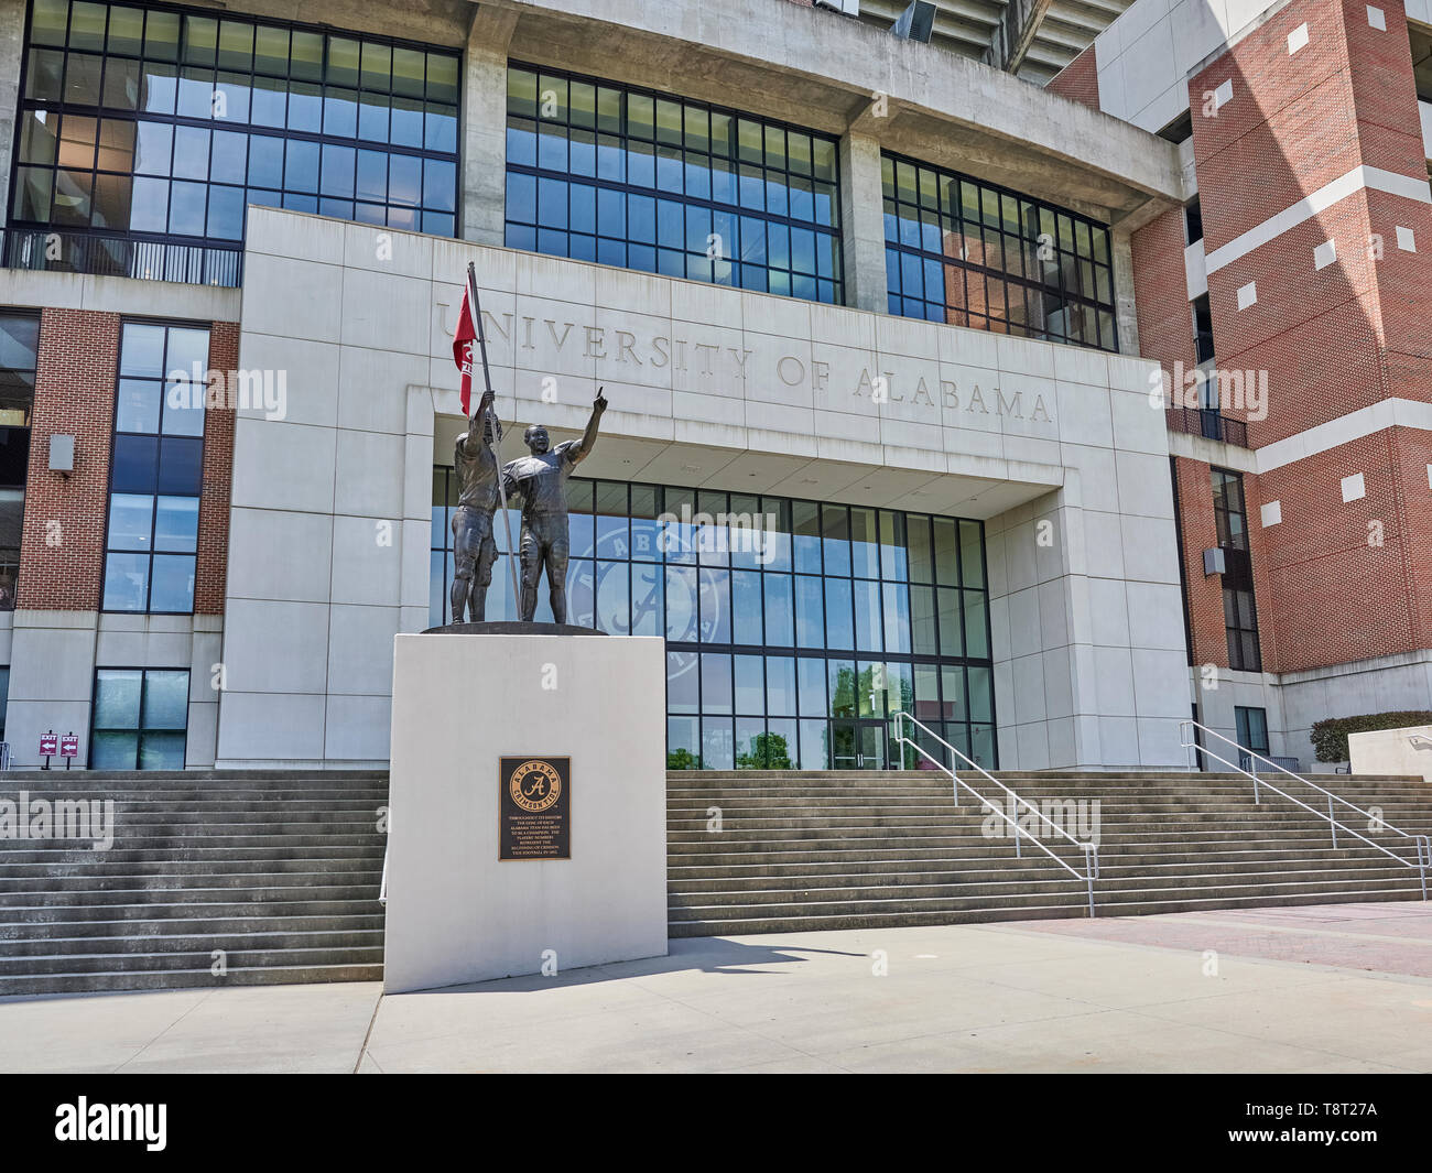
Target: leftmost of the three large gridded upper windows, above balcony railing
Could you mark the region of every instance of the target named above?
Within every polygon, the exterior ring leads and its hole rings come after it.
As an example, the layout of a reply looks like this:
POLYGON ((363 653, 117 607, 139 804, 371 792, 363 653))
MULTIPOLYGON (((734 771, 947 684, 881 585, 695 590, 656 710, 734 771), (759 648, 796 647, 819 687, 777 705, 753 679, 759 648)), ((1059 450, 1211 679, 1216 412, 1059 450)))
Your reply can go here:
POLYGON ((29 46, 9 211, 66 229, 47 265, 236 285, 249 202, 455 232, 451 52, 86 0, 29 46))

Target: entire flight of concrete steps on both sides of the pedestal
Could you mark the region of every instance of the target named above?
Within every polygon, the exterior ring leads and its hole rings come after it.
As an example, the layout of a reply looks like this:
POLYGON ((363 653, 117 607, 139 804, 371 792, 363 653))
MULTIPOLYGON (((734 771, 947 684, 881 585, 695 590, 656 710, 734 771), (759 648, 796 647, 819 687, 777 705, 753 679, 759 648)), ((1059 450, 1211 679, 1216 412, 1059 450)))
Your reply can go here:
MULTIPOLYGON (((1270 793, 1256 805, 1239 775, 1000 778, 1037 805, 1100 802, 1100 917, 1422 895, 1415 868, 1359 841, 1335 849, 1326 822, 1270 793)), ((1322 781, 1432 834, 1419 779, 1322 781)), ((0 834, 0 997, 382 977, 384 773, 0 775, 0 801, 20 791, 113 799, 115 844, 0 834)), ((1083 881, 1030 844, 1015 858, 985 819, 928 771, 674 772, 670 934, 1087 915, 1083 881)), ((1405 841, 1370 836, 1413 858, 1405 841)))

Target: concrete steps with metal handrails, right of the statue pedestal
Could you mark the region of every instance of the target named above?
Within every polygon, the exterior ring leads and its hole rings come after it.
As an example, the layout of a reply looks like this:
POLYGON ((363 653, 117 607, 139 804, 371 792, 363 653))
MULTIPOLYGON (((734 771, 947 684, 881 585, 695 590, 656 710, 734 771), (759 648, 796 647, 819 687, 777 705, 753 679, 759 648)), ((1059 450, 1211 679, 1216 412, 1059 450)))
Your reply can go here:
MULTIPOLYGON (((1325 821, 1266 791, 1256 805, 1242 775, 997 776, 1035 805, 1098 799, 1100 917, 1422 898, 1416 868, 1346 836, 1333 849, 1325 821)), ((1393 826, 1432 832, 1432 786, 1421 779, 1340 775, 1319 785, 1382 808, 1393 826)), ((673 772, 670 935, 1088 915, 1083 879, 1031 844, 1015 858, 1012 839, 981 834, 985 818, 965 792, 955 806, 949 779, 929 771, 673 772), (719 832, 707 829, 713 806, 719 832)), ((1352 818, 1340 821, 1415 861, 1409 841, 1352 818)), ((1081 864, 1063 841, 1047 842, 1081 864)))

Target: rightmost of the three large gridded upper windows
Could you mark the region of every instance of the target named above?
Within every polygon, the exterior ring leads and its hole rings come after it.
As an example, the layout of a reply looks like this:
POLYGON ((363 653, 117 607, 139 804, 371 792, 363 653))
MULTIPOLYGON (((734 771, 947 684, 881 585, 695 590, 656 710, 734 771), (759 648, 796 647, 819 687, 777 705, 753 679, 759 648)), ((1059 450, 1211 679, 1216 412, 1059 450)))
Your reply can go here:
POLYGON ((894 155, 881 169, 891 314, 1118 349, 1106 226, 894 155))

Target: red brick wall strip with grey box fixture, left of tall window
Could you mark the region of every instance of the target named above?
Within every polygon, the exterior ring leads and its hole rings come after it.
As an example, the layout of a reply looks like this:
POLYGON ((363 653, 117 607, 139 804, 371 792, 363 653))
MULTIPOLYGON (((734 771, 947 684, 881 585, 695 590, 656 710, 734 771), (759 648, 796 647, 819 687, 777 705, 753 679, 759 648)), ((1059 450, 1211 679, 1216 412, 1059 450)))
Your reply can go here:
POLYGON ((99 609, 117 367, 117 314, 42 314, 17 607, 99 609), (69 477, 49 468, 56 433, 74 437, 69 477))

